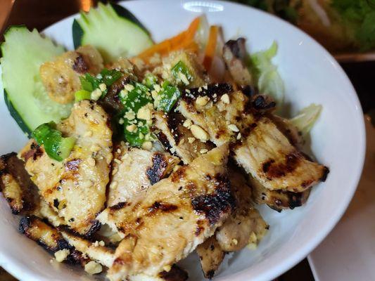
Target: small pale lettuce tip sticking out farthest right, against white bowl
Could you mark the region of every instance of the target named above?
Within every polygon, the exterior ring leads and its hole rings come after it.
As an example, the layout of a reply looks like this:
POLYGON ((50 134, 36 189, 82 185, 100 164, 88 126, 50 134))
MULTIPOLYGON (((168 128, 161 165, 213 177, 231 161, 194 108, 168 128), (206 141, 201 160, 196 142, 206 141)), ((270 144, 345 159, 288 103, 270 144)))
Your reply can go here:
POLYGON ((306 135, 312 129, 312 126, 314 126, 320 112, 322 112, 322 105, 315 105, 312 103, 303 108, 298 115, 290 119, 290 122, 298 128, 298 131, 303 135, 306 135))

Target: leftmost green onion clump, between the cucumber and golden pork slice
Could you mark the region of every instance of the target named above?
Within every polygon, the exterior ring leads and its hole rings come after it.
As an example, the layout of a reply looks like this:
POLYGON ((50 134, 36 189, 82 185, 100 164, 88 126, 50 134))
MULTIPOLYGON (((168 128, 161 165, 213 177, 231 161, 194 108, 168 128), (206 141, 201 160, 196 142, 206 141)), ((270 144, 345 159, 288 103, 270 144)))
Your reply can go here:
POLYGON ((75 145, 75 138, 63 138, 61 131, 56 129, 55 122, 38 126, 32 133, 32 137, 38 145, 44 145, 44 150, 49 157, 57 161, 63 161, 68 157, 75 145))

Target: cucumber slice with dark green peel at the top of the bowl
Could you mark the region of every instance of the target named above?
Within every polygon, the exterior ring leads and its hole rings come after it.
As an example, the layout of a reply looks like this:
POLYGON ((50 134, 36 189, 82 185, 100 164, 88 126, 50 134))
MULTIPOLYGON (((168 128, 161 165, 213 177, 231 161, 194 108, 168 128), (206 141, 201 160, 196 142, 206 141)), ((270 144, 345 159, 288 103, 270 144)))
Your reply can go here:
POLYGON ((89 13, 81 12, 72 25, 75 48, 90 44, 106 63, 137 55, 153 45, 146 28, 126 8, 98 3, 89 13))

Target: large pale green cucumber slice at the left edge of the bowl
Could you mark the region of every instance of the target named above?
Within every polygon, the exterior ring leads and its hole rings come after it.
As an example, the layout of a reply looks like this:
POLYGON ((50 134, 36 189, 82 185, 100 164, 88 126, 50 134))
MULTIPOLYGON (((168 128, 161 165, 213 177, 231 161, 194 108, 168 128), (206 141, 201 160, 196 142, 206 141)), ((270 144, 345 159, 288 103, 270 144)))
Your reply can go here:
POLYGON ((50 39, 24 26, 10 27, 1 44, 4 99, 11 116, 29 136, 40 124, 67 117, 72 105, 51 100, 39 77, 42 63, 63 53, 50 39))

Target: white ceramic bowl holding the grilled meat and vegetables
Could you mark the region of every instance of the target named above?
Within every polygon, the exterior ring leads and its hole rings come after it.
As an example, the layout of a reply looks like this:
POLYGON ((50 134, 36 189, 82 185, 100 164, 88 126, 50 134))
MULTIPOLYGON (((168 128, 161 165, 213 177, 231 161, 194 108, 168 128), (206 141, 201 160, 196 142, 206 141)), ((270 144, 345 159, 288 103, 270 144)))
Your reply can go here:
MULTIPOLYGON (((211 24, 222 25, 226 39, 248 39, 248 50, 267 48, 276 40, 275 63, 286 84, 286 100, 293 112, 310 103, 322 104, 322 115, 312 129, 312 151, 331 172, 313 188, 305 206, 281 214, 267 207, 260 211, 269 233, 256 250, 227 257, 216 280, 271 280, 305 258, 331 231, 350 202, 364 161, 364 122, 360 103, 348 77, 329 53, 305 33, 278 18, 253 8, 222 1, 127 1, 123 3, 160 41, 180 32, 206 13, 211 24)), ((72 48, 73 18, 49 27, 45 33, 72 48)), ((26 141, 0 103, 0 152, 19 150, 26 141)), ((0 265, 20 280, 91 280, 80 268, 56 262, 36 243, 18 233, 18 218, 0 201, 0 265)), ((182 261, 191 280, 202 280, 195 254, 182 261)))

